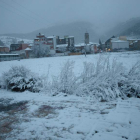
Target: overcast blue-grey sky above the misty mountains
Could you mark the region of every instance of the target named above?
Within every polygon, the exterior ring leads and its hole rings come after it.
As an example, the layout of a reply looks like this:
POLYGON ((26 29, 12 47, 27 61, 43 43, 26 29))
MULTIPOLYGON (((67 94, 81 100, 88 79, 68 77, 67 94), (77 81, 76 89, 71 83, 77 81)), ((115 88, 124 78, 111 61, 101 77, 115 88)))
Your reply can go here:
POLYGON ((89 21, 105 31, 132 17, 140 17, 140 0, 0 0, 0 34, 73 21, 89 21))

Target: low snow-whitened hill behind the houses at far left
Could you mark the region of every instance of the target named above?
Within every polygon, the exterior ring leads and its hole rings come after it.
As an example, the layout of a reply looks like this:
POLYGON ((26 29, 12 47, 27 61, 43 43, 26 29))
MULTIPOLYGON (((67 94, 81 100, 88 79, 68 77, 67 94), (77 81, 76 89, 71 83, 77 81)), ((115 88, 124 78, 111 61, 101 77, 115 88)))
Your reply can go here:
POLYGON ((10 36, 0 36, 0 40, 4 43, 6 47, 10 48, 10 45, 13 43, 13 40, 18 41, 24 41, 24 43, 32 44, 33 40, 30 39, 22 39, 22 38, 16 38, 16 37, 10 37, 10 36))

